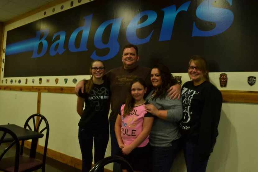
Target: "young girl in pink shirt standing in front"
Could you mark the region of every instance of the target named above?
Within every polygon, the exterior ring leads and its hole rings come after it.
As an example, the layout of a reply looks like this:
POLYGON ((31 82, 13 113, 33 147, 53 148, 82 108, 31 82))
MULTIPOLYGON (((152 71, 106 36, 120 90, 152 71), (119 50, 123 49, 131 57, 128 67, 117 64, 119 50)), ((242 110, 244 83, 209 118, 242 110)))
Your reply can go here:
MULTIPOLYGON (((126 103, 118 109, 115 133, 124 158, 134 171, 143 171, 150 165, 148 143, 154 116, 145 111, 144 80, 135 78, 129 88, 126 103)), ((122 170, 127 171, 123 165, 122 170)))

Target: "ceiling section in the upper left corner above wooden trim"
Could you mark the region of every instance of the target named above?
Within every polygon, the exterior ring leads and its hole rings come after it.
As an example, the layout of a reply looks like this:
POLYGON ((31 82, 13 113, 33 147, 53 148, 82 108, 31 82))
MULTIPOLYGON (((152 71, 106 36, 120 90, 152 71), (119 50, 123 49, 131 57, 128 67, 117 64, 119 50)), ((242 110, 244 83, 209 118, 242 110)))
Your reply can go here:
POLYGON ((55 0, 0 0, 0 22, 5 22, 21 14, 55 0))

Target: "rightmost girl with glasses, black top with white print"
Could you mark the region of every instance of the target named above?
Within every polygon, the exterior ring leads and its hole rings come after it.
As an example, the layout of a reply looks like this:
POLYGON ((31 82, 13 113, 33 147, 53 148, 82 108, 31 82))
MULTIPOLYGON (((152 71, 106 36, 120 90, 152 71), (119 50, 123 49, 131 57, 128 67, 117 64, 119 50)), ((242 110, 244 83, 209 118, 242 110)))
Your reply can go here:
POLYGON ((184 139, 187 172, 205 172, 218 136, 222 106, 221 92, 210 83, 206 61, 192 56, 182 86, 183 118, 179 123, 184 139))

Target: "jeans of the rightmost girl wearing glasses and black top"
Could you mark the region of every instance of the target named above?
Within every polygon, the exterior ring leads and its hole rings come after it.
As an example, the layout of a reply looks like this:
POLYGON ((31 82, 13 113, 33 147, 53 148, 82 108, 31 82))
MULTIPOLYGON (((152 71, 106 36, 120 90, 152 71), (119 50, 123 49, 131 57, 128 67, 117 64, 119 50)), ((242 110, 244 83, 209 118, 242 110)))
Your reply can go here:
POLYGON ((186 141, 183 149, 187 172, 205 172, 209 158, 205 160, 198 158, 199 152, 197 145, 193 142, 186 141))

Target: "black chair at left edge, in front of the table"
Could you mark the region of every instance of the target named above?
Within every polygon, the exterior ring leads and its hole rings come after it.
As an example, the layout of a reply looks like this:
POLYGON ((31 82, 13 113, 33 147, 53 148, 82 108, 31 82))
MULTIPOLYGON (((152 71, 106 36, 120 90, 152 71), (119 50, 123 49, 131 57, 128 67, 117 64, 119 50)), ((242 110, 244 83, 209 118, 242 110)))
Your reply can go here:
POLYGON ((3 139, 7 136, 7 134, 11 135, 11 137, 13 138, 13 141, 9 144, 9 146, 7 146, 1 153, 0 155, 0 166, 1 166, 1 170, 7 169, 13 172, 18 172, 18 168, 19 168, 19 152, 20 152, 20 142, 18 140, 18 137, 16 136, 16 134, 14 132, 12 132, 11 130, 9 130, 8 128, 4 128, 4 127, 0 127, 0 146, 3 142, 3 139), (2 136, 1 136, 2 133, 2 136), (14 161, 6 161, 5 159, 2 159, 3 156, 5 155, 5 153, 12 147, 16 145, 16 153, 15 153, 15 157, 14 157, 14 161), (14 165, 14 166, 13 166, 14 165), (11 169, 10 169, 11 167, 11 169))

